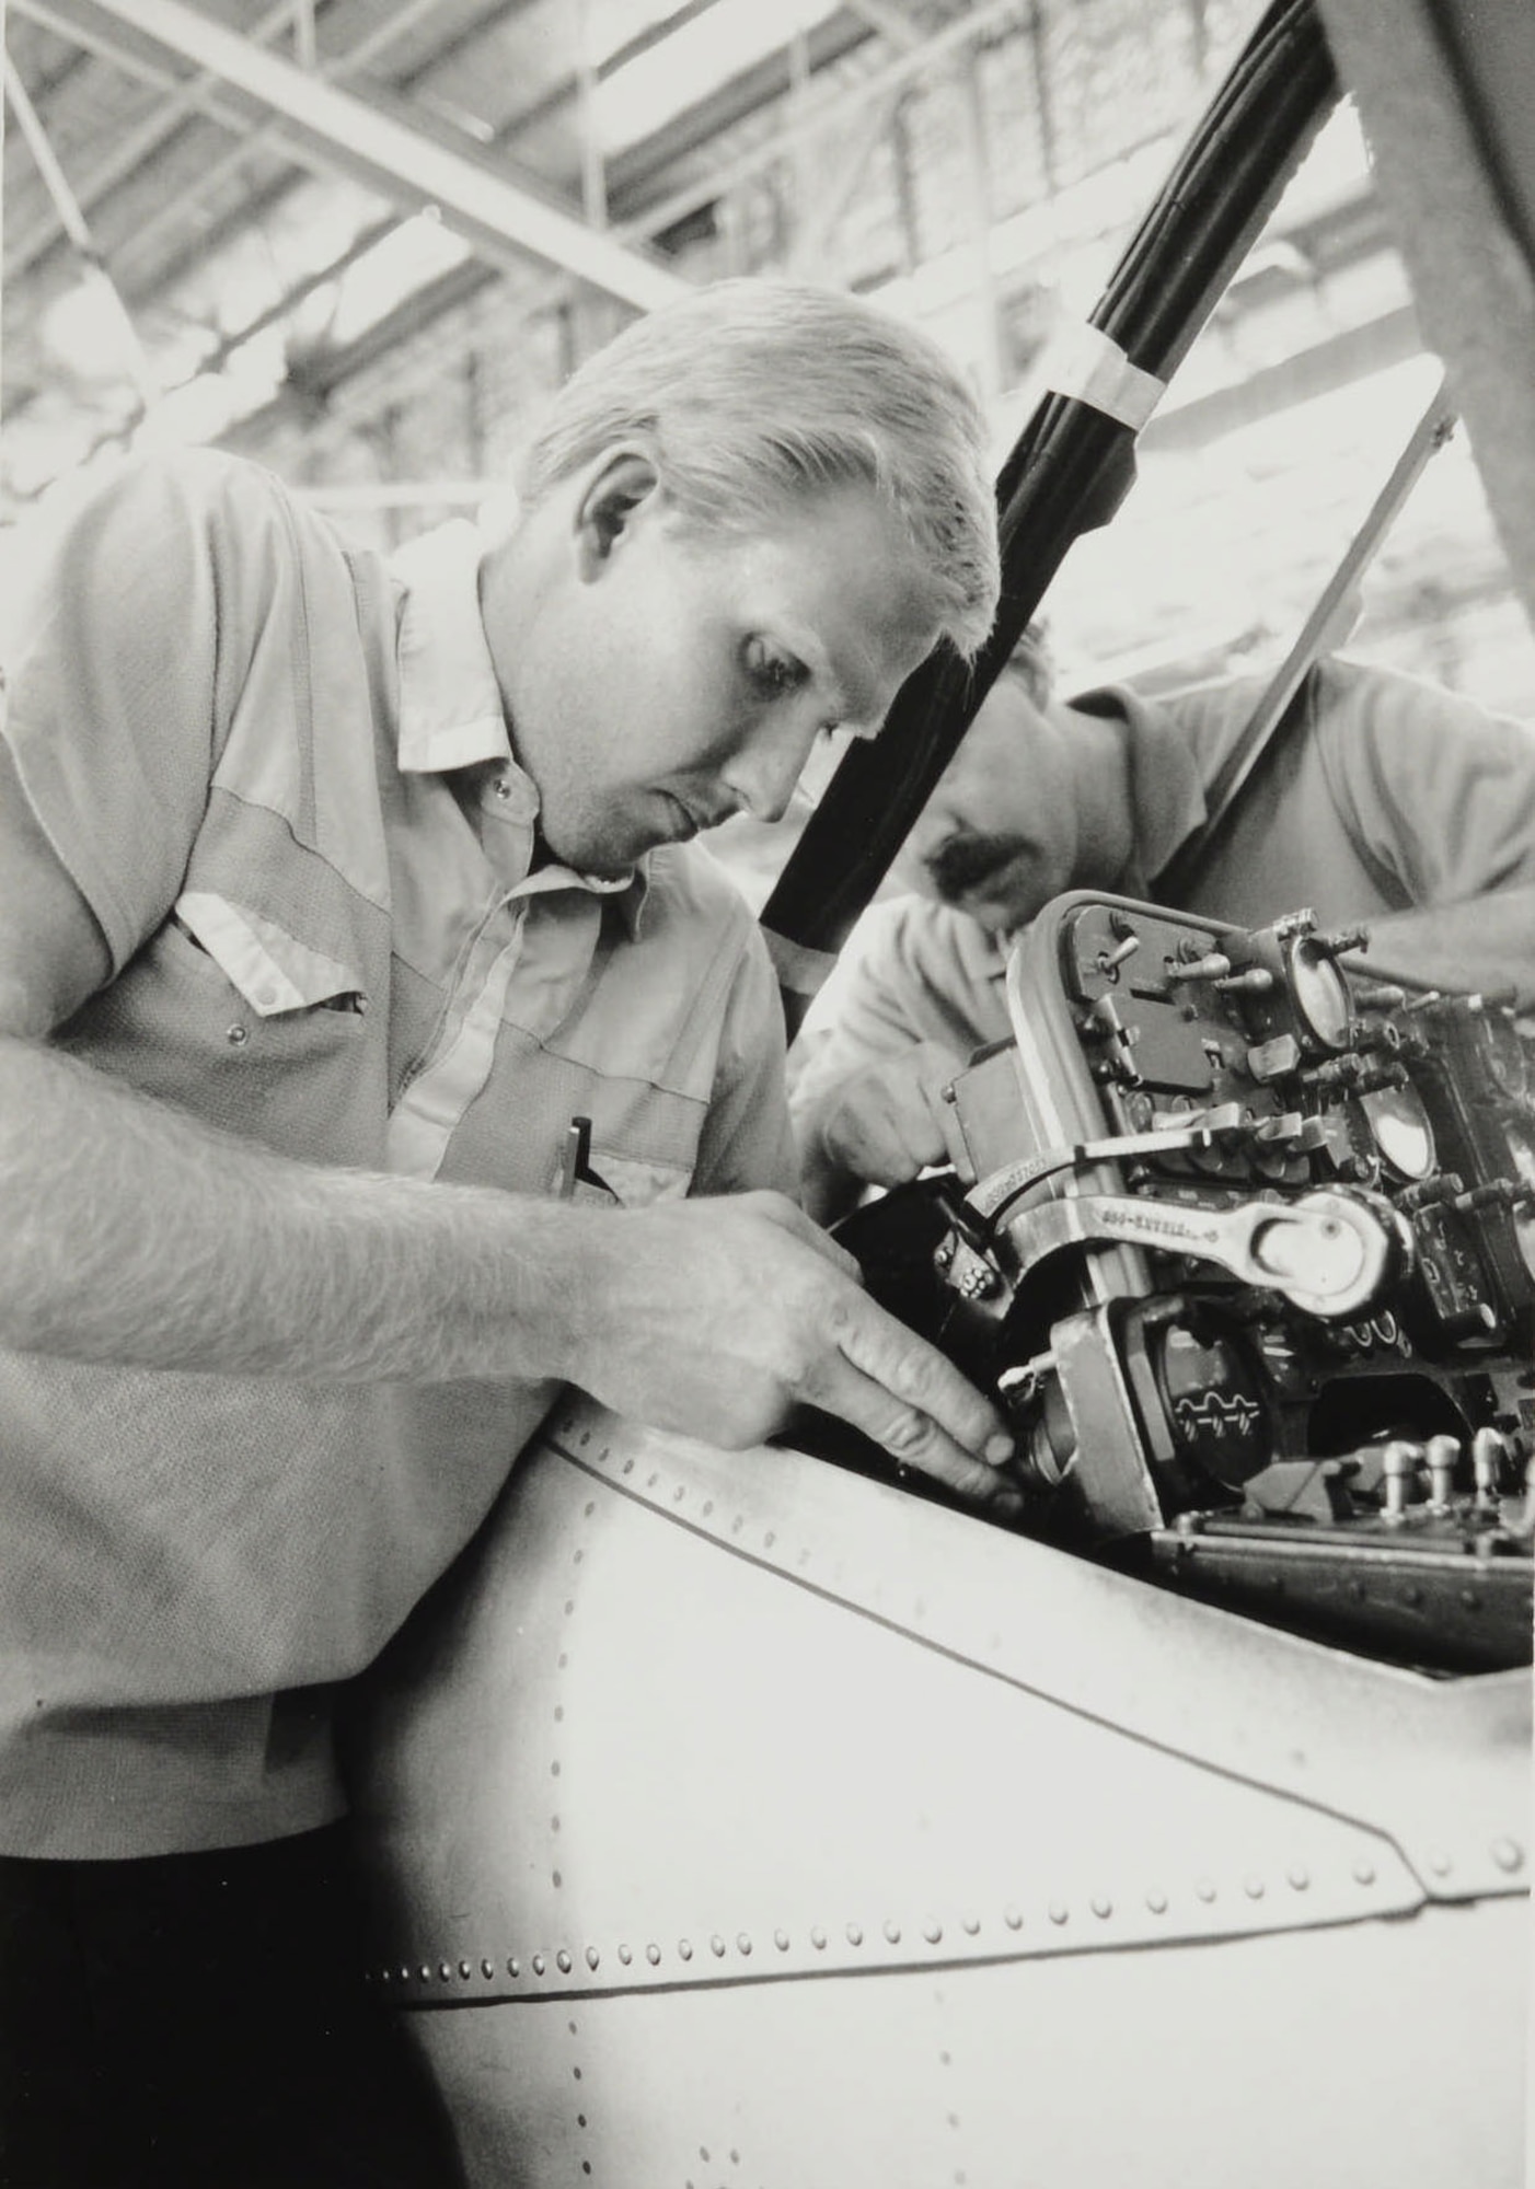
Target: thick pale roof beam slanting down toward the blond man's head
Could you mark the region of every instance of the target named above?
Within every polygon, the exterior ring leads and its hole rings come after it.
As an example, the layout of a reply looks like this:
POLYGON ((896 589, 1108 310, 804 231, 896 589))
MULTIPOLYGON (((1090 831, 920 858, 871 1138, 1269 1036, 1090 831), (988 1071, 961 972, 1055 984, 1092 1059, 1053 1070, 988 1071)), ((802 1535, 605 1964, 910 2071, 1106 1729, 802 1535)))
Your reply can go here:
POLYGON ((545 204, 501 171, 434 142, 420 129, 361 101, 247 37, 226 31, 182 0, 53 0, 55 24, 81 31, 116 22, 193 68, 206 70, 282 125, 285 149, 337 166, 409 210, 436 206, 482 256, 539 258, 609 296, 653 311, 690 287, 659 260, 545 204))

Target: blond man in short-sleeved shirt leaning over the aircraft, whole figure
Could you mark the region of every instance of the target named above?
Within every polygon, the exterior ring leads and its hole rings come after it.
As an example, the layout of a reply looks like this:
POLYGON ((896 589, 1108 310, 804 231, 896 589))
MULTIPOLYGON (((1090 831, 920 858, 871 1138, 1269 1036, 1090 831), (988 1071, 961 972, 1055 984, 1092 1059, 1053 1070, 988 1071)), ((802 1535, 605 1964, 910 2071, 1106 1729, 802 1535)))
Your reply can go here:
POLYGON ((37 554, 0 746, 0 2152, 442 2182, 350 1992, 337 1690, 565 1381, 795 1399, 977 1497, 1001 1423, 797 1211, 782 810, 996 593, 939 350, 795 285, 642 320, 499 538, 388 565, 215 453, 37 554))

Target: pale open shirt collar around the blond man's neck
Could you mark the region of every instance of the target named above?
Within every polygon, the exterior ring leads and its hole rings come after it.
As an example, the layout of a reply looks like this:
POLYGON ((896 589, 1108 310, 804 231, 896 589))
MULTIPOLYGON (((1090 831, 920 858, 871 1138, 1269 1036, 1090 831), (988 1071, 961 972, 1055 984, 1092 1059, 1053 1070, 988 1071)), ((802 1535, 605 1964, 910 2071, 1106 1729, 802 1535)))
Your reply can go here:
MULTIPOLYGON (((445 775, 488 766, 486 784, 499 806, 493 825, 517 836, 510 865, 519 895, 585 889, 613 897, 633 935, 648 889, 648 860, 618 878, 578 873, 574 867, 532 867, 539 788, 512 757, 501 711, 501 687, 480 619, 480 560, 484 534, 455 517, 390 556, 399 584, 396 659, 401 674, 401 775, 445 775)), ((506 860, 497 858, 506 869, 506 860)))

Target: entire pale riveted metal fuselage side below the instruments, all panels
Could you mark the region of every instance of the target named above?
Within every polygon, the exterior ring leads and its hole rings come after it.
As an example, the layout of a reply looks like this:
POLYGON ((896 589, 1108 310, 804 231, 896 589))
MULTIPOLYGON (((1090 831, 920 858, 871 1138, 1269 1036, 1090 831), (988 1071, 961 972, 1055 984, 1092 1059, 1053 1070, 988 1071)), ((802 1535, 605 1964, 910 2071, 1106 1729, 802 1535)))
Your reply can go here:
POLYGON ((381 1668, 368 1974, 486 2185, 1500 2189, 1526 1723, 582 1401, 381 1668))

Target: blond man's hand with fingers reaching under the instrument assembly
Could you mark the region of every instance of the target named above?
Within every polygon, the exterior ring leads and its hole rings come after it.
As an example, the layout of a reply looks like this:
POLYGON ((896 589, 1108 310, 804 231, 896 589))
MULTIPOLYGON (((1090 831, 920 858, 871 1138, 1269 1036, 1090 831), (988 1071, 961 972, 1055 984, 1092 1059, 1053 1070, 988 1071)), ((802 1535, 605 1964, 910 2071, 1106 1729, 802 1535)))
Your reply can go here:
POLYGON ((591 1215, 567 1379, 657 1429, 758 1445, 797 1401, 974 1499, 1009 1502, 996 1410, 861 1289, 780 1193, 591 1215))

